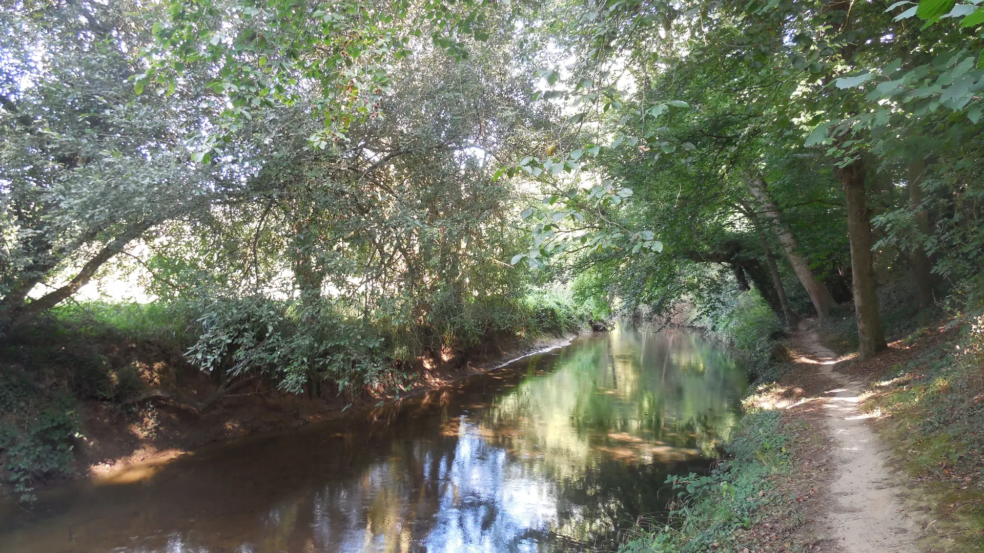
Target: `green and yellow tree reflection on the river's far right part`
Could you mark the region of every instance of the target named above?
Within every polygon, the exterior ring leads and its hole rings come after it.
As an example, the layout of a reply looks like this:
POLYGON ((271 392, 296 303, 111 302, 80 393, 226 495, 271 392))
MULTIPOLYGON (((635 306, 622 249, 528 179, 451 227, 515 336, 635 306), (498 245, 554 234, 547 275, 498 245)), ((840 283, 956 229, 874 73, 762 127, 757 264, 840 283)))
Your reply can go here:
POLYGON ((662 511, 667 474, 736 421, 742 375, 692 335, 613 334, 570 350, 484 411, 491 443, 558 482, 554 532, 596 541, 662 511))

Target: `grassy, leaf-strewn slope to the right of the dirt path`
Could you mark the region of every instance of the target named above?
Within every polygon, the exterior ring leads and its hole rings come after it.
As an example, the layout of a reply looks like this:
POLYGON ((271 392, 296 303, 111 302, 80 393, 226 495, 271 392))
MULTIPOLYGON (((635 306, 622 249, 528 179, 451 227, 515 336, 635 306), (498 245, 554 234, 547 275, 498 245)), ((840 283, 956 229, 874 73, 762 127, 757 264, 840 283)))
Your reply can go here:
POLYGON ((893 367, 862 405, 881 414, 879 434, 919 482, 938 521, 928 538, 935 550, 984 549, 982 345, 979 334, 964 329, 893 367))

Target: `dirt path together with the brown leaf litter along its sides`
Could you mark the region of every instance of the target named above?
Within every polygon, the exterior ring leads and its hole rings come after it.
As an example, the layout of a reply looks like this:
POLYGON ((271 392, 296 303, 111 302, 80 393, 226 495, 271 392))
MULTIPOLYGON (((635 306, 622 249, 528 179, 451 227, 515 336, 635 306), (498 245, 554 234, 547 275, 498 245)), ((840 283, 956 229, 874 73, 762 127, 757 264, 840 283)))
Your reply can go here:
MULTIPOLYGON (((776 482, 765 517, 745 533, 762 551, 910 553, 962 549, 939 531, 932 498, 903 469, 905 455, 883 439, 865 399, 893 367, 916 359, 952 333, 938 329, 914 343, 892 342, 861 361, 824 345, 815 320, 787 340, 791 368, 749 400, 753 408, 780 409, 785 428, 798 435, 788 476, 776 482), (929 529, 927 530, 927 527, 929 529)), ((953 507, 953 506, 951 506, 953 507)), ((743 553, 756 551, 743 548, 743 553)))

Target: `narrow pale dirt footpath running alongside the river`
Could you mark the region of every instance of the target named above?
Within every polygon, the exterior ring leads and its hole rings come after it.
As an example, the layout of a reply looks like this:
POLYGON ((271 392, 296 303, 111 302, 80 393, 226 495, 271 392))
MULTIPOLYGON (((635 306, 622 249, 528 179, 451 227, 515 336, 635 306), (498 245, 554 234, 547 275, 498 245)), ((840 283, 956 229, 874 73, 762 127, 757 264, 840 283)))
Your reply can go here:
POLYGON ((837 384, 825 393, 833 474, 819 529, 850 553, 918 552, 919 517, 901 499, 903 487, 887 466, 888 453, 858 409, 863 385, 834 369, 840 359, 821 343, 814 321, 804 322, 793 346, 801 355, 797 362, 816 364, 837 384))

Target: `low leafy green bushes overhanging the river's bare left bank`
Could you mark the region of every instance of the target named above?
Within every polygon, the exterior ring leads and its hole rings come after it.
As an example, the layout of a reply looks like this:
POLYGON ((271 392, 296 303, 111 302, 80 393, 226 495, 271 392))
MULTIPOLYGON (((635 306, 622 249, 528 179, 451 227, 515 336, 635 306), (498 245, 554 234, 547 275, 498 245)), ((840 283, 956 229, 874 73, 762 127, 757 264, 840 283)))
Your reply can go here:
POLYGON ((522 300, 466 301, 457 308, 453 302, 439 298, 420 324, 396 318, 366 321, 328 300, 305 305, 261 296, 219 298, 203 302, 197 322, 201 335, 186 355, 222 381, 252 373, 274 379, 293 394, 308 384, 312 391, 329 385, 354 393, 364 386, 400 383, 408 377, 403 367, 420 355, 466 351, 504 335, 561 333, 587 319, 569 297, 552 290, 522 300))

